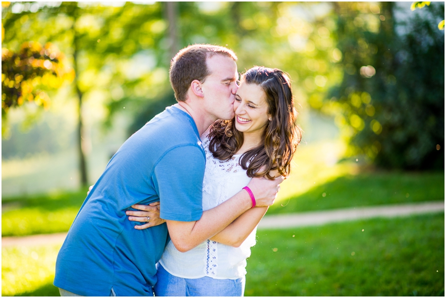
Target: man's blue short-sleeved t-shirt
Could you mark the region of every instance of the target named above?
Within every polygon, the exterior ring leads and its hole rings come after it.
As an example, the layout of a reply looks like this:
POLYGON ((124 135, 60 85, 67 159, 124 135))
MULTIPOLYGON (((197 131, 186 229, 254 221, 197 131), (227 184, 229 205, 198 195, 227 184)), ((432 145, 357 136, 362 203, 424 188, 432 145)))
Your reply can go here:
POLYGON ((175 107, 150 120, 111 158, 85 199, 56 261, 54 285, 83 296, 147 296, 167 225, 134 229, 131 205, 161 202, 160 217, 202 215, 206 156, 194 120, 175 107))

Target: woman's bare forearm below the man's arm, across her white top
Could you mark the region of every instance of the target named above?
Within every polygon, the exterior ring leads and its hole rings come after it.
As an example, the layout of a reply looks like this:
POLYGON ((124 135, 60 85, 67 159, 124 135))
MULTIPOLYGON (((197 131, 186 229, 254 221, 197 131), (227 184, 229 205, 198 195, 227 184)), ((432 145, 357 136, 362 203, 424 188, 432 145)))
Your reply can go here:
POLYGON ((239 247, 259 224, 267 210, 268 207, 255 207, 249 209, 236 218, 222 232, 212 237, 211 240, 225 245, 239 247))

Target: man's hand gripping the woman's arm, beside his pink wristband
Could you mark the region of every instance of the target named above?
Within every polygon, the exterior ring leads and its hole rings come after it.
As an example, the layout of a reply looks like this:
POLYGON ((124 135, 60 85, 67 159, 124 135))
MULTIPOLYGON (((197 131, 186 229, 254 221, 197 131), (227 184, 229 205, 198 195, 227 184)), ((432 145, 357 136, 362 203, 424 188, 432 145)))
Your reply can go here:
POLYGON ((280 183, 285 178, 279 176, 274 180, 262 178, 253 178, 248 183, 248 187, 251 189, 256 199, 257 207, 271 206, 277 197, 277 193, 280 190, 280 183))

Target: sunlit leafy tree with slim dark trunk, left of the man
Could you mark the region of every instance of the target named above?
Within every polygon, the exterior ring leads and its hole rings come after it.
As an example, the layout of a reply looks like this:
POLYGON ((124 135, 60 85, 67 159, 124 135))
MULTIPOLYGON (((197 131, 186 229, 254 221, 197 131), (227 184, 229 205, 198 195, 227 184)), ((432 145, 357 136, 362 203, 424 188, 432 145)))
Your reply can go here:
POLYGON ((76 73, 72 90, 79 108, 77 135, 82 184, 88 181, 83 149, 83 103, 91 98, 104 102, 110 123, 112 115, 122 111, 130 99, 137 103, 147 100, 150 97, 147 94, 155 97, 163 93, 167 76, 157 66, 161 60, 158 58, 165 52, 160 46, 165 23, 160 3, 102 6, 100 3, 15 2, 2 10, 4 45, 8 49, 14 51, 18 44, 30 40, 52 42, 67 55, 76 73), (144 65, 147 59, 143 63, 138 61, 138 54, 144 52, 144 57, 154 61, 153 65, 144 65), (143 66, 139 73, 130 69, 138 63, 143 66))

